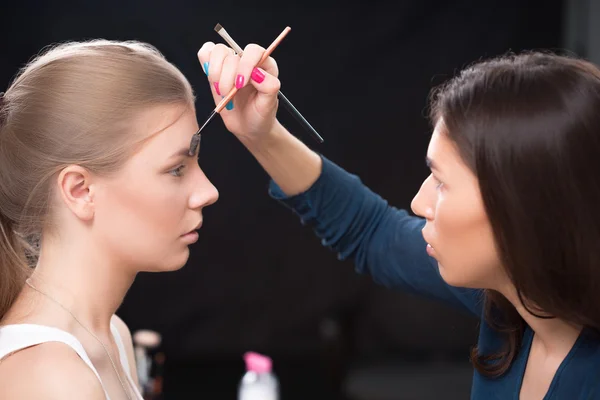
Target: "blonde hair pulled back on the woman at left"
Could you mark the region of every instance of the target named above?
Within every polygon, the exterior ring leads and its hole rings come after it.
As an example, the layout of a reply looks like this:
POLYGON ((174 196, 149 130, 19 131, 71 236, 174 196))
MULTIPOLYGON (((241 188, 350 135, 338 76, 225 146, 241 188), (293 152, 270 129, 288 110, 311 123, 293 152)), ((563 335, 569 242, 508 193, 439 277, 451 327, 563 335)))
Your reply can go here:
POLYGON ((183 74, 136 41, 59 44, 19 72, 0 99, 0 319, 37 257, 53 176, 73 164, 117 171, 140 142, 130 132, 136 114, 193 103, 183 74))

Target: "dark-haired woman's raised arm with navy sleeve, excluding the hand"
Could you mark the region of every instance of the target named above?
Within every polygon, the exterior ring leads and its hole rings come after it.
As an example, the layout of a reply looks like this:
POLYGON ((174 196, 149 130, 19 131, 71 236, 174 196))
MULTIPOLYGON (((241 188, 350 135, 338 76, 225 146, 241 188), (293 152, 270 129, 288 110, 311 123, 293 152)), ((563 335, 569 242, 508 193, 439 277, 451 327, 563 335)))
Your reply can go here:
POLYGON ((279 126, 246 146, 273 178, 270 194, 313 227, 323 245, 379 284, 481 315, 481 291, 441 278, 421 235, 424 220, 390 207, 360 179, 312 152, 279 126))

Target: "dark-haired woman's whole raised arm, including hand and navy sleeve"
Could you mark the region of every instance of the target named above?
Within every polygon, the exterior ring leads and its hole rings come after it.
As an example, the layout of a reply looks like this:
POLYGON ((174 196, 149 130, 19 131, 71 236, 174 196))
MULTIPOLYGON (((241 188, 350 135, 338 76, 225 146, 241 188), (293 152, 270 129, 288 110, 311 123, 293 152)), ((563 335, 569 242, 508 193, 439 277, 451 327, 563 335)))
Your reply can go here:
POLYGON ((219 115, 271 176, 274 197, 310 223, 340 258, 352 258, 359 272, 386 286, 427 294, 480 315, 480 291, 451 288, 442 280, 426 253, 422 220, 389 207, 357 177, 322 160, 276 120, 277 65, 268 58, 259 74, 253 69, 263 54, 260 46, 248 45, 240 58, 224 45, 207 42, 198 58, 210 66, 207 76, 215 103, 221 96, 214 82, 228 92, 241 76, 242 83, 255 89, 238 92, 237 105, 219 115))

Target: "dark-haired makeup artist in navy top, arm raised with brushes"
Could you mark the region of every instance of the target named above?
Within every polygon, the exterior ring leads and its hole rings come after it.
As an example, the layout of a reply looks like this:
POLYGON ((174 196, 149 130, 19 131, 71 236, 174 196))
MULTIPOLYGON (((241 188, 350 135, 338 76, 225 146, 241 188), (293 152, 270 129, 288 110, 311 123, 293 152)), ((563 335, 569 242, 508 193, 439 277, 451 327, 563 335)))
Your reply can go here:
POLYGON ((198 57, 215 103, 241 89, 220 115, 271 196, 359 273, 481 318, 473 399, 600 399, 600 70, 528 53, 440 87, 414 217, 277 121, 263 51, 205 43, 198 57))

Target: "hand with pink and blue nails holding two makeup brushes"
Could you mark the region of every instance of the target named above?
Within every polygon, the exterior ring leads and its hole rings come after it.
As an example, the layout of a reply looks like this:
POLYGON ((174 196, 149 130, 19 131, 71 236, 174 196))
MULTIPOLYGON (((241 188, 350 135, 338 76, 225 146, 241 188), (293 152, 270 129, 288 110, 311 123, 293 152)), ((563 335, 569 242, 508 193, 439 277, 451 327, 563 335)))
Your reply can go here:
POLYGON ((242 56, 223 45, 206 42, 198 52, 210 88, 218 104, 235 86, 239 90, 221 111, 221 118, 231 133, 242 141, 260 141, 277 124, 277 63, 271 57, 256 68, 265 49, 249 44, 242 56))

